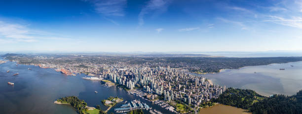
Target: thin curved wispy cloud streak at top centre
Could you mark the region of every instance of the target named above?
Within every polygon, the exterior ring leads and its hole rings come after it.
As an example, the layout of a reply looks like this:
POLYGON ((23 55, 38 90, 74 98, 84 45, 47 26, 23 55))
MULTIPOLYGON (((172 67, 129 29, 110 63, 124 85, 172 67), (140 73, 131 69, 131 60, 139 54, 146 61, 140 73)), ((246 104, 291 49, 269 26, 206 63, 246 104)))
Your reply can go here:
POLYGON ((142 8, 138 20, 139 25, 144 25, 144 16, 148 14, 150 11, 159 10, 159 11, 165 11, 167 8, 167 5, 169 4, 171 0, 150 0, 147 2, 147 5, 142 8))

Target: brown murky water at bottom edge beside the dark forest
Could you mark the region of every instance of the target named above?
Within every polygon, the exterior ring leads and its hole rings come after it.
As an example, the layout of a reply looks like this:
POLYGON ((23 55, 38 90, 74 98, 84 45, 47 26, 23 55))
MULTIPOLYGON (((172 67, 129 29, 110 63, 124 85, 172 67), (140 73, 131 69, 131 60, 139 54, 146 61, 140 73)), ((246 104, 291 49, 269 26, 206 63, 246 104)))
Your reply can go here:
POLYGON ((247 110, 227 106, 227 105, 215 105, 209 108, 201 109, 198 114, 252 114, 248 113, 247 110))

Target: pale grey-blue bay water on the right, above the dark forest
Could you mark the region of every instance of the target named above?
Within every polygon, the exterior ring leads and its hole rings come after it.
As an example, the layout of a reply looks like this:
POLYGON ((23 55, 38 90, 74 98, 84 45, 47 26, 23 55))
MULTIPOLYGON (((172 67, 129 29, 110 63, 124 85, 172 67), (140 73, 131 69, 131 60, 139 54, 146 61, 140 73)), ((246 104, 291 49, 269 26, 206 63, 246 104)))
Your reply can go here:
POLYGON ((261 95, 294 95, 302 89, 302 62, 227 69, 221 73, 201 76, 219 85, 252 89, 261 95))

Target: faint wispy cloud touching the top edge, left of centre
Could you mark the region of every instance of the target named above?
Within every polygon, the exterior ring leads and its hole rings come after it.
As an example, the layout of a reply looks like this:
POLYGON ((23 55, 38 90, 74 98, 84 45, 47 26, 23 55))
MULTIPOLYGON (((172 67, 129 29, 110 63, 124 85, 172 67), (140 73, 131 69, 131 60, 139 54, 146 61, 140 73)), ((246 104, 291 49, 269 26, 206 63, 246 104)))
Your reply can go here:
POLYGON ((94 4, 96 12, 104 16, 124 16, 127 0, 84 0, 94 4))

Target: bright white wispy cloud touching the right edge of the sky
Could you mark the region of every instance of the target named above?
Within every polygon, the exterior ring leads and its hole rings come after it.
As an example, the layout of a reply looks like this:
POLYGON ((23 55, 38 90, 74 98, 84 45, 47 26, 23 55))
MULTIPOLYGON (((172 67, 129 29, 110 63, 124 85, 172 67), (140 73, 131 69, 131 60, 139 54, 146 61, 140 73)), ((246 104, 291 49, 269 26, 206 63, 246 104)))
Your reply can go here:
POLYGON ((271 20, 264 20, 264 22, 272 22, 275 24, 302 29, 302 17, 293 16, 290 19, 285 19, 283 17, 278 17, 278 16, 268 16, 268 17, 270 17, 271 20))

